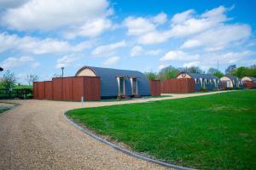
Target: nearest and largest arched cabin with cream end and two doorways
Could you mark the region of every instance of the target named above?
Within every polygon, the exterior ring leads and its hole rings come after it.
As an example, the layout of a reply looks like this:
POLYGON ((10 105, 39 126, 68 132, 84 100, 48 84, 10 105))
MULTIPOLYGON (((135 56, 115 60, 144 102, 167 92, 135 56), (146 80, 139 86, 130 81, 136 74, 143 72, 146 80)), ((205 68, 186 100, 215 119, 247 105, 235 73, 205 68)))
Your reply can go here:
POLYGON ((100 77, 101 99, 150 95, 148 78, 140 71, 84 66, 75 77, 100 77))

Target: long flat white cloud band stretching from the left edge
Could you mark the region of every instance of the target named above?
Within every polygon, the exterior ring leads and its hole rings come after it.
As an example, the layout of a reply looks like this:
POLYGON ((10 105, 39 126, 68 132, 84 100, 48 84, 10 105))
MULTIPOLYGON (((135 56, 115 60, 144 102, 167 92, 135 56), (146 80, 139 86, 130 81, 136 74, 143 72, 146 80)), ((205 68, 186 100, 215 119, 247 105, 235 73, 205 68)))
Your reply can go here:
POLYGON ((18 50, 30 54, 60 54, 65 52, 82 51, 90 48, 90 42, 80 42, 71 45, 67 41, 59 41, 52 38, 39 39, 37 37, 18 37, 0 33, 0 53, 7 50, 18 50))

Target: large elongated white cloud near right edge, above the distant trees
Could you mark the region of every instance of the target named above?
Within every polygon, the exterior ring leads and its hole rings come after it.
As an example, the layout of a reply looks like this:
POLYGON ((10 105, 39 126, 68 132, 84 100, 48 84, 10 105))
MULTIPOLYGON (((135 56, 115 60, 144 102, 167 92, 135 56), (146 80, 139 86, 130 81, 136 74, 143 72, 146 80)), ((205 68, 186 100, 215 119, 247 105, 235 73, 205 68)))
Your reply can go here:
POLYGON ((247 25, 218 26, 183 42, 181 48, 205 46, 208 51, 220 50, 231 42, 246 39, 250 35, 251 28, 247 25))

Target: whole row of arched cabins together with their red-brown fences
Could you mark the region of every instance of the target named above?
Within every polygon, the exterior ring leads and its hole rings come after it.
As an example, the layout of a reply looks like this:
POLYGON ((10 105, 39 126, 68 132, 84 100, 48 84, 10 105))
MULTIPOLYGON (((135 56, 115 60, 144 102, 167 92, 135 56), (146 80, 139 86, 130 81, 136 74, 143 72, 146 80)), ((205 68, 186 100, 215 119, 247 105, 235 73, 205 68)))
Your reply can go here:
POLYGON ((74 77, 34 82, 33 94, 34 99, 99 100, 237 88, 256 88, 256 79, 181 72, 175 79, 150 82, 140 71, 84 66, 74 77))

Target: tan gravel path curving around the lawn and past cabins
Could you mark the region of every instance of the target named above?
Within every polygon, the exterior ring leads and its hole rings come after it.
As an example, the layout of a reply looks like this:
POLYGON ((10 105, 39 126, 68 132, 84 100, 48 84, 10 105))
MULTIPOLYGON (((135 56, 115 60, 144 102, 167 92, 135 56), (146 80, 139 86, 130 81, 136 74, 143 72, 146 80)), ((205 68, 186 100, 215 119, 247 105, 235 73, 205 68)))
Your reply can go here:
MULTIPOLYGON (((87 102, 84 106, 122 105, 197 95, 206 94, 172 94, 172 97, 166 98, 121 102, 87 102)), ((79 102, 12 102, 21 105, 0 114, 0 169, 166 169, 125 155, 73 127, 63 113, 81 107, 79 102)))

